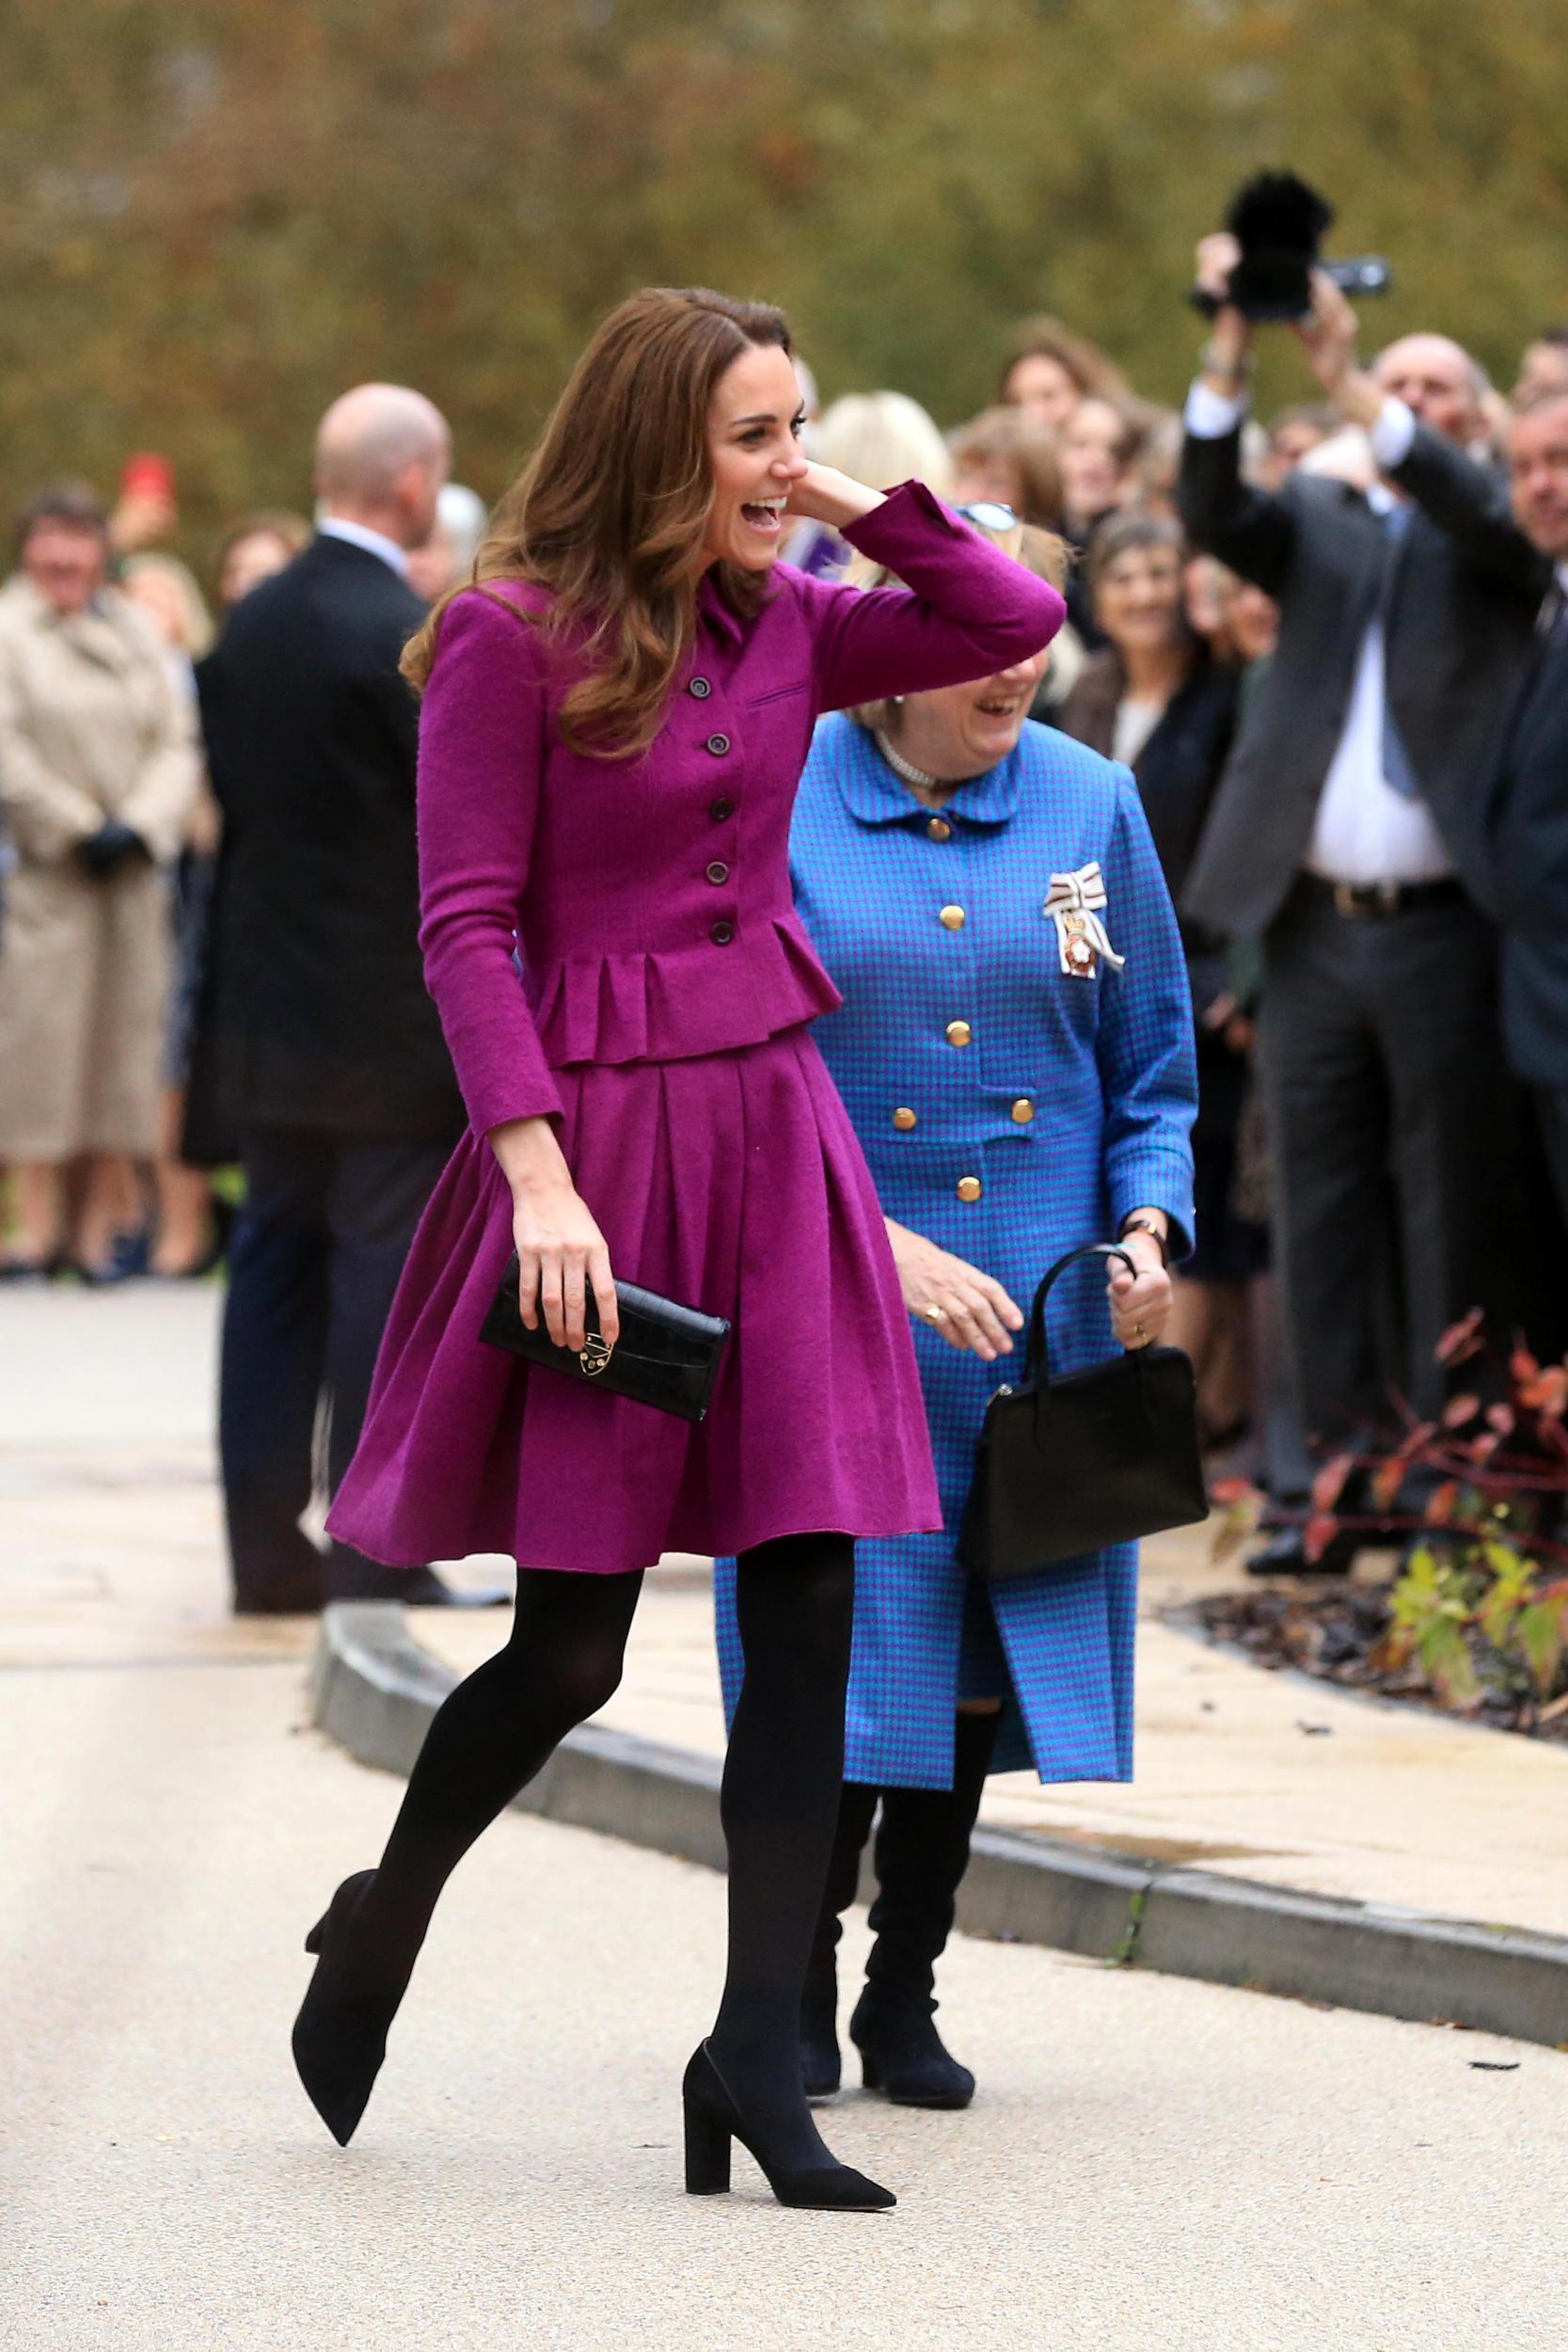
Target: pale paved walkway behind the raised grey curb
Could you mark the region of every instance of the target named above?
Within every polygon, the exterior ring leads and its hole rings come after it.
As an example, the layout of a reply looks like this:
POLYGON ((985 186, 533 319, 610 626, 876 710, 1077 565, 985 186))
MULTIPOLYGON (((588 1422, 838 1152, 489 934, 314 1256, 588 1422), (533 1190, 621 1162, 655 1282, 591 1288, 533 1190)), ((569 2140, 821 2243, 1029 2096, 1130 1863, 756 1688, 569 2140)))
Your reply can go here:
MULTIPOLYGON (((0 1661, 301 1656, 226 1613, 212 1486, 214 1289, 0 1298, 0 1661)), ((484 1578, 487 1566, 468 1571, 484 1578)), ((1199 1534, 1145 1548, 1138 1780, 990 1783, 985 1818, 1154 1860, 1568 1933, 1568 1750, 1265 1675, 1164 1625, 1215 1583, 1199 1534)), ((505 1616, 414 1613, 458 1668, 505 1616)), ((607 1722, 717 1752, 708 1576, 649 1581, 607 1722)))

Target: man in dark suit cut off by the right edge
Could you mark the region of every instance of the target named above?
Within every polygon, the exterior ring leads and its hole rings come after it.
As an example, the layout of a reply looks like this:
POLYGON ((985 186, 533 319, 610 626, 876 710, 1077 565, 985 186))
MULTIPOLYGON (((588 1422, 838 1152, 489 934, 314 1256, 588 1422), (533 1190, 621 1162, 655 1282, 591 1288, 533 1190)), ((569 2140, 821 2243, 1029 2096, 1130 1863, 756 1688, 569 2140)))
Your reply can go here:
POLYGON ((1552 567, 1488 807, 1502 920, 1502 1035, 1535 1089, 1568 1228, 1568 386, 1509 426, 1514 515, 1552 567))

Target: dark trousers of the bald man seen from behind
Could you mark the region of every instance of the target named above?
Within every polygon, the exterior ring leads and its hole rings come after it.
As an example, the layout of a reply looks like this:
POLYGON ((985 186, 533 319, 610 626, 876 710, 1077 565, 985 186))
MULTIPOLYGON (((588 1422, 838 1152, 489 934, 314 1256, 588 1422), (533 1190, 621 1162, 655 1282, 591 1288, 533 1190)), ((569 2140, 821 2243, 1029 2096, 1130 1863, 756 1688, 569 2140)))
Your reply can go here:
POLYGON ((449 1143, 256 1127, 240 1157, 219 1376, 235 1597, 313 1606, 371 1573, 343 1543, 322 1557, 299 1519, 322 1409, 329 1491, 360 1442, 393 1291, 449 1143))

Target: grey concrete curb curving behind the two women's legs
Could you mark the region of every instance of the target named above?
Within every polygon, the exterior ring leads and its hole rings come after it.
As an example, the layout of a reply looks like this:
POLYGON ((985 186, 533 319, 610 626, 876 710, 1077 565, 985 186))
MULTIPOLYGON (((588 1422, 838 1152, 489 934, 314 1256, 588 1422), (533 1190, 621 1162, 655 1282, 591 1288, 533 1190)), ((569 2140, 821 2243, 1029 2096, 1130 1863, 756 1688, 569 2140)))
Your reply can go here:
MULTIPOLYGON (((409 1637, 400 1604, 343 1602, 322 1616, 313 1719, 362 1764, 407 1776, 454 1682, 409 1637)), ((717 1759, 628 1731, 574 1731, 517 1809, 724 1867, 717 1759)), ((1568 2046, 1568 1938, 1526 1929, 1006 1830, 976 1832, 959 1926, 1213 1985, 1568 2046)))

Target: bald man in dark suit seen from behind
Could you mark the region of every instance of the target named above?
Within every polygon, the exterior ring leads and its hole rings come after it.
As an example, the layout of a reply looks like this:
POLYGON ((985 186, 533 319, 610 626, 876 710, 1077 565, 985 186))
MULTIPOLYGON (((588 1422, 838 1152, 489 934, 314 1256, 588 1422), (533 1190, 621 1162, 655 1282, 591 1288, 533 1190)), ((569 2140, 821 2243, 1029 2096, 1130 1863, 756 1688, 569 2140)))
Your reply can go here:
POLYGON ((418 957, 416 706, 425 616, 407 550, 435 520, 447 423, 367 383, 322 419, 315 541, 233 612, 202 663, 223 809, 193 1084, 244 1167, 219 1449, 237 1611, 449 1599, 301 1529, 369 1397, 397 1275, 463 1108, 418 957))

